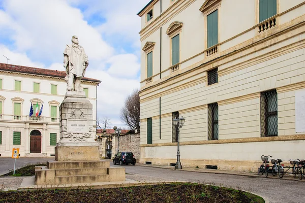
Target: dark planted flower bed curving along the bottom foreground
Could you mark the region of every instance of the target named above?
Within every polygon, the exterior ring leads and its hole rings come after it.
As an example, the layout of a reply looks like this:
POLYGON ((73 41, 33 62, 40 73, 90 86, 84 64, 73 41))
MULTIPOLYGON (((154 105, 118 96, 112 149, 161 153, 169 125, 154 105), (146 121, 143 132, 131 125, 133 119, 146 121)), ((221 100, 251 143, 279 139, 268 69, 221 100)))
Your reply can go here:
POLYGON ((256 195, 240 190, 174 183, 108 189, 37 189, 2 191, 0 202, 264 202, 256 195))

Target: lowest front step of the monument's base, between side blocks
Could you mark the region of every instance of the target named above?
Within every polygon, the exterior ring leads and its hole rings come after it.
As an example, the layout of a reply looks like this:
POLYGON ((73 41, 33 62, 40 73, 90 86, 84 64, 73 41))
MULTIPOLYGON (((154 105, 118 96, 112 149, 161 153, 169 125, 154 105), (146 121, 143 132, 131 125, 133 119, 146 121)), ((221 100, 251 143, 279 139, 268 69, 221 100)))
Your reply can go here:
POLYGON ((109 182, 109 175, 57 176, 55 184, 109 182))

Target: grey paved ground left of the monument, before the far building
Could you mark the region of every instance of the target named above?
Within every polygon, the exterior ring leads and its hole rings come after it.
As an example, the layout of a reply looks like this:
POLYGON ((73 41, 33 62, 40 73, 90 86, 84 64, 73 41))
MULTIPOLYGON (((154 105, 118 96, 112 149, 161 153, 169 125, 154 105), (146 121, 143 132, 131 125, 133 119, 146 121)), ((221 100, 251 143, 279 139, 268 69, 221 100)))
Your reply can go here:
MULTIPOLYGON (((29 163, 46 163, 49 160, 54 160, 54 157, 49 158, 18 158, 16 159, 16 169, 25 166, 29 163)), ((13 158, 0 158, 0 176, 14 170, 13 158)))

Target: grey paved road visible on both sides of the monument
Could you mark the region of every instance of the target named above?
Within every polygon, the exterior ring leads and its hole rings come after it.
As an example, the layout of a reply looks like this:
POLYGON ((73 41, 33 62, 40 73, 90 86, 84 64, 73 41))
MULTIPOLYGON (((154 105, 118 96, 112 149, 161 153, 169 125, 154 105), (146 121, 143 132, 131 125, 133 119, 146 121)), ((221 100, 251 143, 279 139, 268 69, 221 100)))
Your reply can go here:
MULTIPOLYGON (((27 163, 46 162, 54 158, 20 158, 18 167, 27 163)), ((112 167, 121 167, 113 165, 112 167)), ((13 169, 14 159, 0 158, 0 174, 13 169)), ((283 179, 271 179, 264 177, 251 178, 246 176, 197 173, 188 171, 175 171, 166 168, 145 167, 139 165, 124 165, 126 173, 138 177, 151 177, 151 179, 188 181, 196 183, 215 184, 218 186, 239 188, 266 197, 270 202, 305 202, 305 181, 293 181, 283 179)), ((133 176, 127 175, 130 178, 133 176)), ((134 176, 135 177, 135 176, 134 176)))

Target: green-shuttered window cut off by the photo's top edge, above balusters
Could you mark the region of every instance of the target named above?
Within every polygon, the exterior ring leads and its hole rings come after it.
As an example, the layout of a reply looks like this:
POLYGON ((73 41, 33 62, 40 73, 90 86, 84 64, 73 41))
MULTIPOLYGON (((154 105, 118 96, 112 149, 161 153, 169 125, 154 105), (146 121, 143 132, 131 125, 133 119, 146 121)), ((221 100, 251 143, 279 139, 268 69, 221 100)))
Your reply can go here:
POLYGON ((259 0, 259 22, 277 14, 277 0, 259 0))

